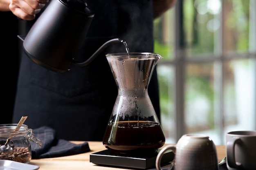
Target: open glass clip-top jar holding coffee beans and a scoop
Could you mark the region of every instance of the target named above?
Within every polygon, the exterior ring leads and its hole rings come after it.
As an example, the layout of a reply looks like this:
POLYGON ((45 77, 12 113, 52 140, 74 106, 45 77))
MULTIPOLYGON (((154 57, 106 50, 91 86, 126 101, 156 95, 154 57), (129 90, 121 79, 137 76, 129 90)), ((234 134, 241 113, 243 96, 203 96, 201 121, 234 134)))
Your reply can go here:
POLYGON ((39 147, 42 146, 42 141, 33 136, 33 130, 27 125, 23 124, 19 130, 14 131, 16 126, 17 124, 0 124, 0 159, 29 163, 32 155, 30 141, 39 147))

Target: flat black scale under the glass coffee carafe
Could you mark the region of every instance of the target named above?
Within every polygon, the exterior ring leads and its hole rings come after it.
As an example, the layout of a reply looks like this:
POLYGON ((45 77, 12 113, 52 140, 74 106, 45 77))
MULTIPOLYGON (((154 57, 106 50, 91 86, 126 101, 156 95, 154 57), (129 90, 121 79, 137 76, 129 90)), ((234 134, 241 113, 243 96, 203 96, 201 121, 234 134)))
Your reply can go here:
MULTIPOLYGON (((110 150, 103 150, 90 154, 90 162, 100 166, 114 166, 132 169, 149 169, 155 168, 155 160, 161 149, 151 155, 129 156, 115 155, 110 150)), ((174 154, 172 151, 164 153, 161 164, 166 165, 173 161, 174 154)))

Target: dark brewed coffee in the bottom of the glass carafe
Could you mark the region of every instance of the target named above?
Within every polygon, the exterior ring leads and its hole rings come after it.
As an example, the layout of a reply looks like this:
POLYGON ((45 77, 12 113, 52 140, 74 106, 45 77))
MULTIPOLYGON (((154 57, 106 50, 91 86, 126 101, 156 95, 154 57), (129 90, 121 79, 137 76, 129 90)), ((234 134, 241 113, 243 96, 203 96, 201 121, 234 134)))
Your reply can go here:
POLYGON ((131 153, 146 148, 146 152, 155 152, 165 143, 165 137, 159 123, 152 121, 121 121, 109 124, 103 145, 119 153, 131 153), (115 131, 115 135, 111 132, 115 131))

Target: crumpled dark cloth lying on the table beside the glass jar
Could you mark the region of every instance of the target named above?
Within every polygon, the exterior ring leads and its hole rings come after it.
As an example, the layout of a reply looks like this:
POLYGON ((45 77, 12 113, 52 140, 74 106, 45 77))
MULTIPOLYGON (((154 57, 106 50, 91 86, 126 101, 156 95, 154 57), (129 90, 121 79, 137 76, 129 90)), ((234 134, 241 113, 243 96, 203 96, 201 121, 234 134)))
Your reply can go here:
POLYGON ((89 152, 88 142, 73 144, 64 139, 56 139, 55 130, 42 126, 33 130, 34 137, 42 141, 42 147, 31 142, 32 159, 63 157, 89 152))

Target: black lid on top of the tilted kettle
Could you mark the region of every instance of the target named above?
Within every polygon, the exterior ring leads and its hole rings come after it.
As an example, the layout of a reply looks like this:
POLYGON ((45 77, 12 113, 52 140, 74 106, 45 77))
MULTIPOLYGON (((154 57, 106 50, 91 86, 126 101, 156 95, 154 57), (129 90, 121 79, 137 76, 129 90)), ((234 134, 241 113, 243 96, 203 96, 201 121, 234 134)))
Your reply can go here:
POLYGON ((85 0, 60 0, 67 7, 70 7, 76 11, 84 13, 86 15, 94 16, 94 13, 87 7, 85 0))

